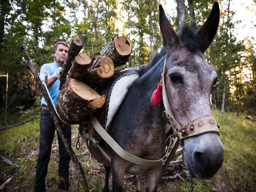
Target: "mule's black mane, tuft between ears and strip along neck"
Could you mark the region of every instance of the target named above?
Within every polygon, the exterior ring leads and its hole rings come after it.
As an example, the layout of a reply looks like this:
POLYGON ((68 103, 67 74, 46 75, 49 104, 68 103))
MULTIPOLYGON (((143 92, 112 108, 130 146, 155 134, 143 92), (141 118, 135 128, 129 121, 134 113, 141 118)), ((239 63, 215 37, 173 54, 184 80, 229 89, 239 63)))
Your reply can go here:
MULTIPOLYGON (((186 48, 188 48, 191 52, 196 52, 196 50, 200 50, 200 44, 202 39, 196 36, 195 30, 189 27, 187 24, 182 28, 179 33, 179 39, 184 44, 186 48)), ((147 67, 141 67, 139 69, 140 76, 144 75, 149 69, 154 67, 154 65, 166 54, 165 49, 162 49, 160 53, 156 55, 156 57, 151 61, 151 63, 147 67)))

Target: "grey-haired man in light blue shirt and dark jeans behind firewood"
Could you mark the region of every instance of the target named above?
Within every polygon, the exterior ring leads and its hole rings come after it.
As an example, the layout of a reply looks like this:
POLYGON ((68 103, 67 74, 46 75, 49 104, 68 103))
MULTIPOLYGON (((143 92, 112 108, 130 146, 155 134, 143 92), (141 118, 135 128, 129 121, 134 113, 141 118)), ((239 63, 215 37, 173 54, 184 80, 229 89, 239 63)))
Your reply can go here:
MULTIPOLYGON (((52 97, 53 103, 56 106, 59 96, 59 87, 60 87, 60 79, 63 79, 61 75, 61 67, 64 64, 65 60, 68 57, 68 44, 60 41, 54 44, 53 46, 53 55, 55 60, 53 63, 46 63, 41 67, 40 71, 40 79, 44 82, 45 72, 48 74, 48 82, 47 88, 50 92, 52 97)), ((50 161, 51 156, 51 147, 52 141, 54 138, 55 132, 55 124, 53 118, 50 114, 49 108, 45 102, 44 97, 41 100, 41 116, 40 116, 40 138, 39 138, 39 155, 37 159, 36 165, 36 182, 34 185, 35 192, 44 192, 45 191, 45 177, 47 175, 47 167, 50 161)), ((62 126, 63 132, 66 135, 68 142, 71 144, 71 126, 64 125, 62 126)), ((61 191, 68 191, 69 182, 68 182, 68 169, 69 169, 69 162, 70 156, 60 139, 60 135, 58 135, 58 144, 59 144, 59 176, 64 179, 61 179, 58 190, 61 191)))

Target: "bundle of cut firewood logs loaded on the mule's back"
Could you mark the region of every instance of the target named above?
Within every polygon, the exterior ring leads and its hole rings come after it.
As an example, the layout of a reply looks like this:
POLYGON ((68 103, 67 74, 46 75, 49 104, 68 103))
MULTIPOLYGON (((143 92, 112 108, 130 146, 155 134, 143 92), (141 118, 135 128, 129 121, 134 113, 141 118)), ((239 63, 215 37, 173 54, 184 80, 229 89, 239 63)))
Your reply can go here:
POLYGON ((91 56, 79 53, 82 47, 83 41, 73 37, 68 58, 63 65, 63 76, 72 67, 56 105, 60 118, 69 124, 87 121, 88 114, 104 105, 106 96, 99 95, 94 89, 112 77, 115 68, 124 65, 132 52, 130 40, 118 35, 112 37, 100 52, 91 56))

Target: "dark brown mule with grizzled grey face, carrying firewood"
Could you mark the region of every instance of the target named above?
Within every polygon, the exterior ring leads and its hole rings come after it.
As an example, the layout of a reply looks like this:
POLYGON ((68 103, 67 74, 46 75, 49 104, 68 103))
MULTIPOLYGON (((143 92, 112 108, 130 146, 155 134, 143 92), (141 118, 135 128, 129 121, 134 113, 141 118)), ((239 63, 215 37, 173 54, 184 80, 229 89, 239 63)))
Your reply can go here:
MULTIPOLYGON (((212 43, 219 19, 219 5, 215 2, 208 19, 196 34, 185 27, 178 37, 166 18, 162 6, 159 5, 163 50, 148 67, 139 69, 140 77, 127 93, 108 131, 109 135, 127 152, 148 160, 160 159, 164 155, 166 133, 163 127, 165 124, 170 124, 172 118, 165 115, 166 107, 163 102, 157 106, 151 104, 152 93, 161 82, 161 78, 165 82, 163 86, 166 89, 167 102, 177 124, 186 125, 198 117, 212 114, 210 94, 218 76, 214 68, 204 59, 204 51, 212 43)), ((210 123, 217 126, 213 120, 210 120, 210 123)), ((199 127, 202 124, 199 122, 199 127)), ((183 131, 183 126, 178 130, 175 125, 172 124, 173 131, 178 137, 181 134, 183 137, 186 130, 183 131)), ((189 126, 193 131, 194 125, 189 126)), ((224 148, 216 133, 205 131, 192 137, 179 138, 187 156, 191 176, 209 179, 221 167, 224 148)), ((154 166, 130 163, 118 156, 108 144, 102 142, 111 156, 111 162, 98 148, 92 146, 91 141, 88 149, 92 156, 105 164, 106 180, 103 191, 109 191, 110 167, 112 191, 123 191, 125 172, 145 173, 146 191, 156 191, 162 170, 161 163, 154 166)))

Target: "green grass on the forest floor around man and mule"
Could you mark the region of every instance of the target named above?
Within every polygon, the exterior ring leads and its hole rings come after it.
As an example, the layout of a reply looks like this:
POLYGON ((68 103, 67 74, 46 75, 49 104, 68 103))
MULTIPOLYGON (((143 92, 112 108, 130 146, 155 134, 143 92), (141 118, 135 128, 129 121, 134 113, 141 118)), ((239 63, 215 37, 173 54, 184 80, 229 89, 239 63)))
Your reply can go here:
MULTIPOLYGON (((245 119, 243 115, 237 117, 235 113, 222 113, 219 110, 212 110, 212 113, 220 124, 220 140, 225 148, 224 162, 212 179, 193 179, 194 191, 213 191, 213 188, 223 192, 256 191, 256 123, 245 119)), ((72 126, 72 148, 76 154, 79 153, 75 149, 77 128, 77 125, 72 126)), ((19 169, 13 168, 0 161, 0 185, 14 173, 18 173, 11 184, 3 191, 33 191, 39 146, 39 118, 1 131, 0 141, 0 155, 20 166, 19 169)), ((83 151, 87 150, 86 144, 84 144, 83 148, 83 151)), ((176 154, 176 158, 179 155, 181 155, 181 152, 176 154)), ((48 191, 57 191, 58 159, 58 142, 57 134, 55 133, 45 183, 48 191)), ((102 191, 105 175, 103 164, 99 164, 89 153, 82 156, 80 162, 84 168, 90 191, 102 191)), ((74 172, 75 165, 71 162, 69 169, 70 181, 74 172)), ((184 179, 185 182, 180 179, 173 181, 161 180, 157 191, 189 191, 190 179, 185 176, 184 179)), ((111 189, 111 175, 109 184, 111 189)), ((125 180, 124 186, 124 191, 138 191, 135 178, 125 180)), ((141 191, 145 191, 145 179, 143 178, 140 178, 140 188, 141 191)), ((79 190, 83 191, 76 175, 72 191, 79 190)))

